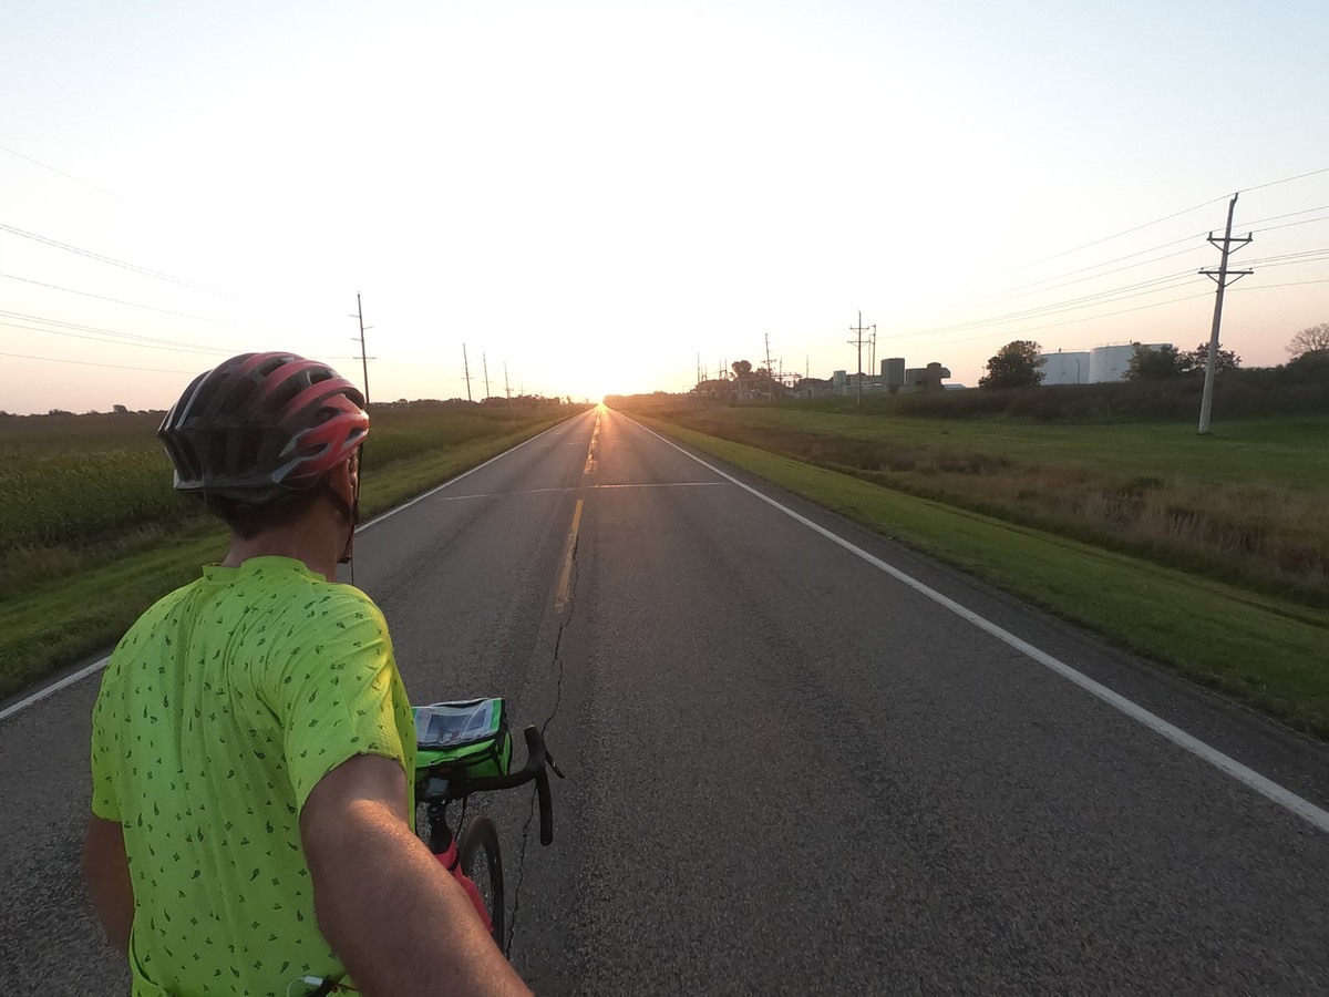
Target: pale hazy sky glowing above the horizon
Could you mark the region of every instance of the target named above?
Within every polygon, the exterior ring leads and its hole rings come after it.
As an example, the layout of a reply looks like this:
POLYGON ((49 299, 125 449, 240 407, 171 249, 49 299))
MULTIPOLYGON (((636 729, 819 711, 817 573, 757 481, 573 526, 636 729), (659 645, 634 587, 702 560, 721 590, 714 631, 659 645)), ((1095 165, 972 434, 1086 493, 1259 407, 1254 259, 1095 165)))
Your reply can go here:
POLYGON ((767 338, 829 376, 860 310, 969 384, 1017 338, 1189 348, 1239 190, 1223 340, 1281 363, 1329 322, 1325 39, 1322 0, 5 0, 0 408, 245 350, 359 379, 358 291, 375 400, 465 397, 462 344, 476 397, 481 358, 598 397, 767 338))

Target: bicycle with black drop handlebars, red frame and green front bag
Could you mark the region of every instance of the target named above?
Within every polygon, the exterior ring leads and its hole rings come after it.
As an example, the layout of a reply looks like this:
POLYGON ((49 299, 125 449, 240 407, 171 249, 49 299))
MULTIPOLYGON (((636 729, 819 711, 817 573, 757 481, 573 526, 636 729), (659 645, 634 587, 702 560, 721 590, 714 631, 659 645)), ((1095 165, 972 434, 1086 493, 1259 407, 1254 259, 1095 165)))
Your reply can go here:
POLYGON ((459 881, 466 887, 469 880, 472 885, 466 892, 490 936, 506 952, 506 897, 498 828, 484 814, 468 822, 466 802, 476 792, 510 790, 534 780, 540 800, 540 843, 549 845, 554 840, 554 811, 548 770, 553 770, 560 779, 563 772, 534 724, 522 731, 526 764, 520 771, 509 771, 512 735, 501 699, 433 703, 415 710, 416 804, 424 808, 427 823, 427 831, 420 836, 453 875, 460 865, 464 879, 459 876, 459 881), (461 803, 456 822, 460 837, 448 820, 448 806, 452 803, 461 803))

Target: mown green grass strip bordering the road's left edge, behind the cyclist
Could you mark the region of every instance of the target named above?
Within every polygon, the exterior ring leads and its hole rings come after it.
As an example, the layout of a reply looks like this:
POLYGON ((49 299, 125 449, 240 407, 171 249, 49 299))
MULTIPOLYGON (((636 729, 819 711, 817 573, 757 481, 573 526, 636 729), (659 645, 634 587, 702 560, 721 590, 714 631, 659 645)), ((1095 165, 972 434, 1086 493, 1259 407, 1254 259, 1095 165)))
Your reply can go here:
MULTIPOLYGON (((513 433, 367 468, 360 506, 365 520, 412 498, 536 436, 566 413, 513 433)), ((225 526, 190 521, 148 549, 104 565, 33 584, 20 600, 0 601, 0 701, 31 683, 110 647, 149 605, 226 556, 225 526)))

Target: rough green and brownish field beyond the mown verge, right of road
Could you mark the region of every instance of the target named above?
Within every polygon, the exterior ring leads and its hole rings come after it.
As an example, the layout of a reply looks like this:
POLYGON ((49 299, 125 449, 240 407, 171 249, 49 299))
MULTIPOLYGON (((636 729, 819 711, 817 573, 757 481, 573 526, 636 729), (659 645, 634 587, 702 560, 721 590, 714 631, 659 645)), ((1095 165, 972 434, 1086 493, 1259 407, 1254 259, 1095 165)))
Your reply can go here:
POLYGON ((1220 581, 1329 606, 1329 416, 1039 424, 676 408, 678 425, 1220 581))

